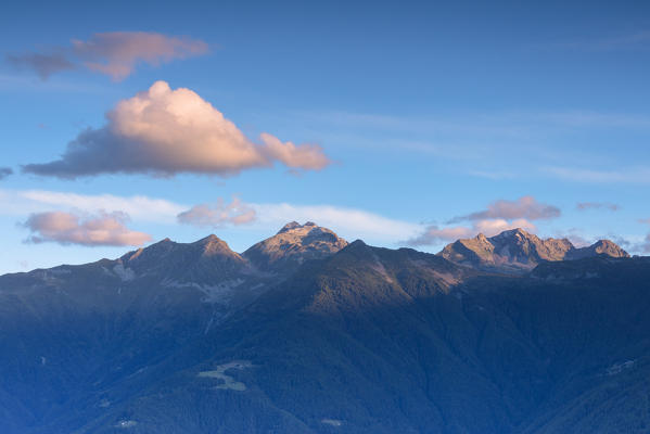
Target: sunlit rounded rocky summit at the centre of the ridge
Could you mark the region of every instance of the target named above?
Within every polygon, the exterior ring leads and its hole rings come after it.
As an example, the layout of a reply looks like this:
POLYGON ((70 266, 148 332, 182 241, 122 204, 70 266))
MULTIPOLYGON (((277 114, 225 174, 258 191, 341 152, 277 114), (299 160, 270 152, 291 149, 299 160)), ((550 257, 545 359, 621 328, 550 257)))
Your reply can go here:
POLYGON ((284 225, 280 231, 243 253, 243 257, 264 271, 288 271, 305 260, 321 259, 347 245, 327 228, 307 221, 284 225))

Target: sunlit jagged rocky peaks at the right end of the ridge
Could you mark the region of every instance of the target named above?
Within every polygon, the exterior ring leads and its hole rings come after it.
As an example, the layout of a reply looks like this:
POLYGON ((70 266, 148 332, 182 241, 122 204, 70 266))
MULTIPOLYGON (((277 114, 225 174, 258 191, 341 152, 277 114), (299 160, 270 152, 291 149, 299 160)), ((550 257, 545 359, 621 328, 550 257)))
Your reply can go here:
POLYGON ((539 239, 523 229, 507 230, 486 238, 482 233, 473 239, 448 244, 438 255, 453 263, 486 271, 521 273, 545 261, 572 260, 585 257, 629 257, 627 252, 609 240, 576 248, 566 239, 539 239))

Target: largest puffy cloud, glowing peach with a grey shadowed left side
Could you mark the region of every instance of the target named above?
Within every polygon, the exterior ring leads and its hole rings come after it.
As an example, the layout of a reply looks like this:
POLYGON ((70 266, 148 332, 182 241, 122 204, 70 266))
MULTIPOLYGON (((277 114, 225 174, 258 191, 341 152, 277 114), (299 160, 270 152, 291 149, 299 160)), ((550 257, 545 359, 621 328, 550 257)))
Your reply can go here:
POLYGON ((69 142, 61 159, 23 170, 69 179, 116 173, 229 176, 277 161, 304 170, 330 164, 315 144, 283 143, 268 133, 262 144, 254 143, 199 94, 171 90, 165 81, 118 102, 106 118, 104 127, 89 128, 69 142))

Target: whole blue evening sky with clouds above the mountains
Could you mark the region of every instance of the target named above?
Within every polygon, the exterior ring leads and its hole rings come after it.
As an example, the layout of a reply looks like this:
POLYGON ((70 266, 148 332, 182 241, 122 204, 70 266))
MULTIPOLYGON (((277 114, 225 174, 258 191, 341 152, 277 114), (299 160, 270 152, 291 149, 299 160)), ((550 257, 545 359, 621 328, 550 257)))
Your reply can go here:
POLYGON ((650 254, 650 5, 31 2, 0 15, 0 273, 285 222, 650 254))

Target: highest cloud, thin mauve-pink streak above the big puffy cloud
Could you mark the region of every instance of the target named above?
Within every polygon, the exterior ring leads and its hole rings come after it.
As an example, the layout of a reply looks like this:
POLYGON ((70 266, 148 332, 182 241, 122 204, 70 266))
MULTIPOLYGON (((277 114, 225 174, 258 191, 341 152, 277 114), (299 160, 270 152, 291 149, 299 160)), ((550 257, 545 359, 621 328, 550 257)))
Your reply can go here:
POLYGON ((141 63, 158 66, 176 59, 205 54, 207 51, 207 43, 187 37, 148 31, 111 31, 94 34, 87 41, 73 39, 72 47, 10 54, 7 60, 17 67, 34 69, 42 79, 62 71, 84 66, 119 81, 141 63))

